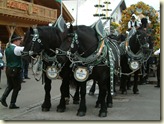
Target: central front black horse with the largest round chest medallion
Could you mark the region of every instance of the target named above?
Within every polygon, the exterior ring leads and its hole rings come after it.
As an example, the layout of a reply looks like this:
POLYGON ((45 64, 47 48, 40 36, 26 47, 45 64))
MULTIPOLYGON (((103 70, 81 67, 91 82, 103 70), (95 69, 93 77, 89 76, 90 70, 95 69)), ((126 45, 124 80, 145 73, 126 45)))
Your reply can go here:
POLYGON ((57 60, 60 64, 63 65, 68 60, 72 62, 74 77, 78 80, 81 99, 77 115, 84 116, 87 111, 86 82, 94 79, 99 86, 97 101, 101 104, 99 116, 106 117, 106 102, 112 101, 115 65, 114 53, 109 47, 110 43, 107 38, 99 38, 96 30, 89 26, 70 26, 68 32, 68 37, 56 51, 57 54, 59 53, 57 60), (61 56, 61 53, 65 56, 61 56), (110 95, 110 98, 108 97, 109 99, 106 100, 107 94, 110 95))

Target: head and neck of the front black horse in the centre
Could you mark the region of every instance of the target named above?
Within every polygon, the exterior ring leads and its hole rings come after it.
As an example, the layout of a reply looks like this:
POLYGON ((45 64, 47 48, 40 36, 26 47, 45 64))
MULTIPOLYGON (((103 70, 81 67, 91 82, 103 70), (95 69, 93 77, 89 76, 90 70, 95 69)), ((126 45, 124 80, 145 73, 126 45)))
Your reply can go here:
POLYGON ((96 32, 89 26, 70 26, 67 38, 61 44, 60 48, 56 50, 58 54, 58 61, 65 63, 69 58, 71 61, 75 59, 75 55, 87 57, 92 54, 98 46, 98 39, 96 32), (64 55, 64 56, 63 56, 64 55))

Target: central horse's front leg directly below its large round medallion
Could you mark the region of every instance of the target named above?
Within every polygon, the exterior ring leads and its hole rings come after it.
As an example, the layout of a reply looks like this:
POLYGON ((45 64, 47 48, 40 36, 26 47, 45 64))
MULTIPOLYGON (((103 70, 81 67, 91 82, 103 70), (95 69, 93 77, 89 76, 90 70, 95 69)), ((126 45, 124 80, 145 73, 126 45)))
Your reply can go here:
POLYGON ((80 83, 80 96, 81 96, 81 100, 80 100, 77 116, 82 117, 82 116, 85 116, 85 113, 87 111, 86 98, 85 98, 86 97, 86 82, 80 83))

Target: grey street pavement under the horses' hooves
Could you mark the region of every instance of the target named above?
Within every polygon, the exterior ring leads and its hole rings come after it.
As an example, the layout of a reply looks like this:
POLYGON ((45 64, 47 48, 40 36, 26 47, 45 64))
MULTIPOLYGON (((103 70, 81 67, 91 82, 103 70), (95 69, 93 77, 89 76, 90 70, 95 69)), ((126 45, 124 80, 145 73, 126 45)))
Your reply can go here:
MULTIPOLYGON (((44 100, 44 85, 41 81, 36 81, 29 69, 29 77, 26 83, 22 84, 22 89, 19 93, 17 105, 20 109, 10 110, 0 104, 0 120, 16 120, 16 121, 36 121, 36 120, 101 120, 101 121, 157 121, 162 119, 162 104, 161 104, 161 90, 155 88, 156 77, 149 77, 150 84, 139 85, 140 93, 133 94, 131 90, 125 95, 119 93, 117 87, 117 95, 113 96, 113 108, 108 108, 108 116, 106 118, 99 118, 99 109, 95 108, 97 100, 98 88, 94 96, 86 95, 87 113, 84 117, 76 116, 78 105, 72 103, 70 99, 67 105, 66 112, 56 112, 56 107, 60 100, 60 85, 61 80, 53 80, 51 89, 52 108, 49 112, 41 111, 41 104, 44 100)), ((2 71, 2 81, 0 84, 0 96, 6 88, 6 76, 4 70, 2 71)), ((87 83, 87 92, 91 87, 91 81, 87 83)), ((74 89, 71 89, 71 94, 74 94, 74 89)), ((10 97, 7 98, 7 103, 10 102, 10 97)), ((6 122, 6 121, 5 121, 6 122)))

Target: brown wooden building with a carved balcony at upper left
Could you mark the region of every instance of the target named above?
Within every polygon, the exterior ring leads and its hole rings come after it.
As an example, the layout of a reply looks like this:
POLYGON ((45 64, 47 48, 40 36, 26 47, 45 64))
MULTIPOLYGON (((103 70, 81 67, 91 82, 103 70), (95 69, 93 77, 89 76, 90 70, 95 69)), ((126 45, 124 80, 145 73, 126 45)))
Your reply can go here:
MULTIPOLYGON (((61 14, 61 4, 55 0, 0 0, 0 41, 5 45, 15 32, 23 36, 32 26, 48 25, 61 14)), ((62 3, 66 22, 74 21, 71 13, 62 3)))

